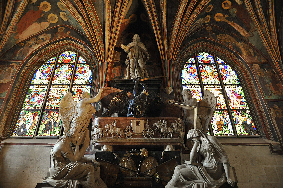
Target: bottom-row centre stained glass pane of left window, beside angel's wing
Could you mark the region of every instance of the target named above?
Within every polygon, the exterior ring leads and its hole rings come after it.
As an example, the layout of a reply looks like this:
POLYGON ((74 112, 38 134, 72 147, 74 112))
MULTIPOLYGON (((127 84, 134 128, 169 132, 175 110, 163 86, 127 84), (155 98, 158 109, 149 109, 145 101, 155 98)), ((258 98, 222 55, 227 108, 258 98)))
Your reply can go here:
POLYGON ((42 120, 40 122, 37 136, 59 136, 61 127, 61 117, 59 112, 52 110, 45 110, 43 112, 42 120))

